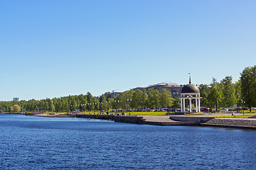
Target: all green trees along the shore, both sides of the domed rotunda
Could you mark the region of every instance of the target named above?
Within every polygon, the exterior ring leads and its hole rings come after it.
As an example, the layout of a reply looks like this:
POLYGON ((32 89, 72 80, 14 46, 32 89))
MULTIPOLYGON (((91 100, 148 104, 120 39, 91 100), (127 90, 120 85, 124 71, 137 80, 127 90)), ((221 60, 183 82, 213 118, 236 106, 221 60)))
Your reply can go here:
MULTIPOLYGON (((251 108, 256 106, 256 66, 246 67, 240 73, 240 79, 233 83, 233 78, 225 77, 220 82, 213 79, 210 88, 207 85, 199 87, 201 91, 201 106, 208 108, 229 108, 235 104, 251 108)), ((68 111, 99 111, 108 109, 129 108, 161 108, 180 107, 178 98, 173 98, 167 89, 129 90, 115 98, 105 98, 102 94, 95 97, 87 92, 75 96, 46 98, 29 101, 0 101, 1 112, 68 112, 68 111), (19 106, 19 107, 18 107, 19 106)))

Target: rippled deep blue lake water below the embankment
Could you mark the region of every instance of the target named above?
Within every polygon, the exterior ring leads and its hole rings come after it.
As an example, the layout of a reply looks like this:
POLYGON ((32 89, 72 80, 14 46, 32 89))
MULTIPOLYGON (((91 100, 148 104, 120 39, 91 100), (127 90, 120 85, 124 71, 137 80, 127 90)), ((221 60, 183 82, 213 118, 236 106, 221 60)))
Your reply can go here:
POLYGON ((256 169, 256 131, 0 115, 0 169, 256 169))

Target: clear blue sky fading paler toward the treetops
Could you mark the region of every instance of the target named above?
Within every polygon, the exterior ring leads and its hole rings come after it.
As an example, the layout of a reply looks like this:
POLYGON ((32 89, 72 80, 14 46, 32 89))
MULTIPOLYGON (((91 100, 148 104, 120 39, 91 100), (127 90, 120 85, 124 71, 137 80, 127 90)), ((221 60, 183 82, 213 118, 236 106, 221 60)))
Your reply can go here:
POLYGON ((210 84, 256 64, 256 1, 0 0, 0 101, 210 84))

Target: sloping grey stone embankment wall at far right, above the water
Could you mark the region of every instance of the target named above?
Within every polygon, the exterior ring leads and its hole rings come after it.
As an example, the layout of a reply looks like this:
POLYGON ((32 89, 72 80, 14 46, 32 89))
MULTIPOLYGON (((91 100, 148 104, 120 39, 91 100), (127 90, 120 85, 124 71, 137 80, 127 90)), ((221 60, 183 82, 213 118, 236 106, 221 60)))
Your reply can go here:
POLYGON ((212 125, 227 128, 250 128, 256 129, 256 119, 245 118, 214 118, 201 125, 212 125))

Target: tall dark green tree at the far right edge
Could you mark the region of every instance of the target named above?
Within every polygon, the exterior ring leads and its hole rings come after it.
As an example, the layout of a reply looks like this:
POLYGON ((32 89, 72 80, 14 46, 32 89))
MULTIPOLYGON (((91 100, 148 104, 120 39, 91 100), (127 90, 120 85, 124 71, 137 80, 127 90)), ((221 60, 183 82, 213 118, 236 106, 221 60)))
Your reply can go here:
POLYGON ((242 100, 252 111, 252 106, 256 106, 256 65, 246 67, 240 76, 242 100))

